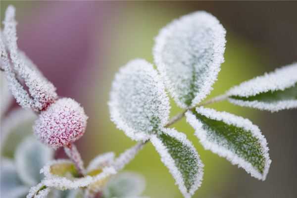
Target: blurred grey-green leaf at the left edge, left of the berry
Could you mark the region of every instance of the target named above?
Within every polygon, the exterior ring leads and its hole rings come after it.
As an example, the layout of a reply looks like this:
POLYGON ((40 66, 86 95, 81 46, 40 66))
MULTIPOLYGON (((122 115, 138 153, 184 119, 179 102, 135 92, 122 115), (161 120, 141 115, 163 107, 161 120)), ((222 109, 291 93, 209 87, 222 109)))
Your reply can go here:
POLYGON ((33 134, 32 126, 37 116, 27 109, 18 108, 11 111, 1 122, 1 156, 14 156, 15 149, 21 141, 33 134))

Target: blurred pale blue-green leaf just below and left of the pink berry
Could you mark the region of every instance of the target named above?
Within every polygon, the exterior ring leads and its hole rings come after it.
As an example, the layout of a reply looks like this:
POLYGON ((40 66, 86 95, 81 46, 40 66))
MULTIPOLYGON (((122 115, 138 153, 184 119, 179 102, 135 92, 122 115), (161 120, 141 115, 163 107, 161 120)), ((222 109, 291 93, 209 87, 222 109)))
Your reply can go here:
POLYGON ((52 149, 37 141, 34 136, 27 137, 15 151, 19 177, 28 186, 37 185, 43 179, 40 169, 52 158, 52 149))

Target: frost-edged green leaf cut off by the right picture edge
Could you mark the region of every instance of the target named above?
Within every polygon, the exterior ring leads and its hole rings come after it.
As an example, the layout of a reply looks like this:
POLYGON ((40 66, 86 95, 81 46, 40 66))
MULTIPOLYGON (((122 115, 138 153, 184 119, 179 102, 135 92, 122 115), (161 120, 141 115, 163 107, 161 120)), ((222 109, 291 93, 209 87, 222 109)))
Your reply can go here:
POLYGON ((297 107, 297 63, 276 69, 233 87, 229 101, 261 110, 279 111, 297 107))

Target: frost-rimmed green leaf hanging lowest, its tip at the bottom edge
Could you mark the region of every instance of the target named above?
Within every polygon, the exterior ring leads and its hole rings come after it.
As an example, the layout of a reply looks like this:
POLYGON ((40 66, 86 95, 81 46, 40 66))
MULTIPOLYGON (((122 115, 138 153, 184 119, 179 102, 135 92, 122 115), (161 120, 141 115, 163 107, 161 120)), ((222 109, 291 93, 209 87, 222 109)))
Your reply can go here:
POLYGON ((186 135, 175 129, 164 129, 150 139, 162 162, 173 175, 179 190, 190 198, 201 185, 203 164, 186 135))

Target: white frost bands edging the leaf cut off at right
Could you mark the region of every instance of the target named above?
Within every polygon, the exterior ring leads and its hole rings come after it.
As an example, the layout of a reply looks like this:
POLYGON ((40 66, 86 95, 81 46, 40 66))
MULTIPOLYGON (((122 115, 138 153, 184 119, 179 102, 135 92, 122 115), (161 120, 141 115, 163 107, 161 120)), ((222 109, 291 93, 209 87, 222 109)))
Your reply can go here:
MULTIPOLYGON (((231 88, 227 92, 227 95, 251 97, 269 91, 284 91, 285 89, 294 86, 297 86, 297 63, 284 66, 276 69, 274 72, 266 73, 263 76, 258 76, 243 82, 242 84, 231 88)), ((297 107, 297 99, 284 99, 270 103, 258 100, 246 101, 232 98, 229 98, 229 101, 240 106, 270 110, 272 112, 297 107)))

